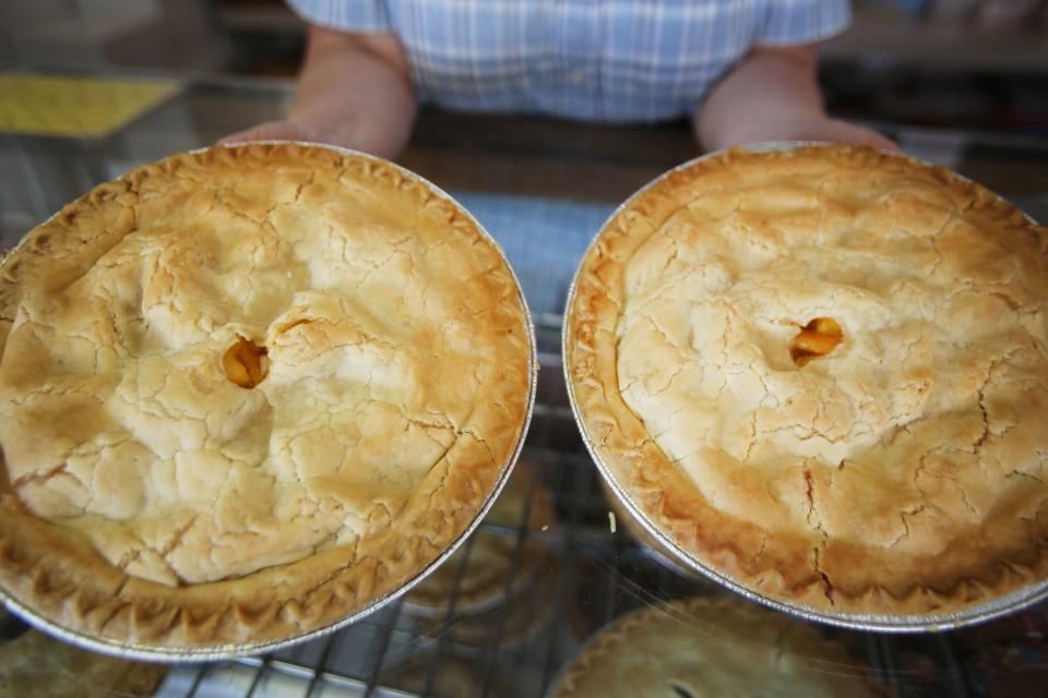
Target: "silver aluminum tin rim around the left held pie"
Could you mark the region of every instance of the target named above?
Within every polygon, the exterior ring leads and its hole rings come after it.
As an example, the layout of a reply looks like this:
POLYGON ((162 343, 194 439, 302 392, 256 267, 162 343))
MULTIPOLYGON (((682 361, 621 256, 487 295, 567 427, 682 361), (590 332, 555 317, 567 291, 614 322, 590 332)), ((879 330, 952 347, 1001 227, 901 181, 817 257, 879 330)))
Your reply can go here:
MULTIPOLYGON (((488 493, 488 496, 485 498, 483 505, 477 509, 476 515, 474 516, 473 521, 466 529, 455 539, 437 558, 430 562, 426 567, 420 569, 414 577, 408 581, 401 585, 397 589, 372 599, 370 602, 360 606, 349 615, 331 623, 326 626, 315 628, 306 633, 300 633, 298 635, 291 635, 287 637, 260 640, 257 642, 233 642, 224 645, 203 645, 199 647, 164 647, 150 643, 139 643, 139 642, 121 642, 118 640, 99 638, 85 633, 80 633, 78 630, 71 630, 49 618, 40 615, 35 610, 28 605, 22 603, 20 600, 12 597, 7 589, 0 587, 0 601, 8 607, 9 611, 19 615, 23 621, 29 625, 36 627, 39 630, 43 630, 53 637, 62 639, 67 642, 75 645, 86 650, 94 652, 100 652, 104 654, 110 654, 114 657, 121 657, 126 659, 135 659, 143 661, 152 662, 202 662, 202 661, 214 661, 230 659, 234 657, 243 657, 249 654, 260 654, 263 652, 275 652, 277 650, 286 649, 294 645, 299 645, 301 642, 307 642, 310 640, 315 640, 318 638, 325 637, 333 633, 353 625, 357 621, 377 613, 382 609, 385 609, 401 599, 404 594, 410 591, 416 585, 421 582, 426 577, 428 577, 434 569, 440 567, 449 557, 451 557, 456 550, 466 541, 467 538, 476 530, 480 525, 480 521, 484 519, 485 515, 488 513, 488 509, 495 504, 495 501, 499 497, 499 494, 502 492, 502 488, 510 479, 510 473, 513 471, 513 467, 516 465, 517 459, 520 458, 521 452, 524 448, 524 441, 527 436, 528 426, 532 421, 532 413, 535 408, 535 392, 538 382, 538 349, 535 341, 535 324, 532 320, 531 311, 527 308, 527 300, 524 298, 524 292, 521 287, 521 281, 516 276, 516 272, 510 265, 509 260, 505 257, 505 251, 502 249, 502 245, 491 237, 487 229, 480 225, 473 214, 466 209, 465 206, 460 204, 453 196, 448 192, 437 186, 426 178, 416 174, 415 172, 405 169, 404 167, 385 160, 383 158, 370 155, 368 153, 362 153, 360 151, 355 151, 352 148, 344 148, 333 145, 318 144, 318 143, 308 143, 305 141, 255 141, 253 143, 260 143, 263 145, 279 145, 279 144, 294 144, 302 147, 310 148, 322 148, 331 151, 338 155, 347 155, 354 157, 360 157, 373 163, 383 164, 394 168, 401 176, 405 179, 413 180, 414 182, 425 186, 429 191, 433 192, 438 196, 443 197, 444 200, 451 202, 455 207, 465 214, 466 218, 476 226, 477 230, 480 231, 481 237, 491 244, 492 249, 498 253, 499 258, 505 264, 507 269, 510 272, 510 276, 513 278, 513 282, 516 285, 517 298, 521 302, 521 308, 524 311, 524 325, 527 334, 527 346, 528 346, 528 357, 527 357, 527 399, 526 399, 526 410, 524 413, 524 421, 521 424, 521 434, 516 440, 516 443, 513 446, 513 450, 505 461, 502 465, 501 470, 499 471, 498 477, 496 478, 495 484, 491 488, 491 491, 488 493)), ((189 151, 189 155, 195 155, 199 153, 205 153, 215 148, 225 148, 225 147, 237 147, 242 144, 229 144, 229 145, 217 145, 204 148, 196 148, 194 151, 189 151)), ((174 154, 177 155, 177 154, 174 154)), ((169 156, 169 157, 174 157, 169 156)), ((50 221, 58 215, 60 212, 56 212, 51 215, 44 224, 50 221)), ((40 225, 44 225, 40 224, 40 225)), ((27 234, 22 238, 17 245, 15 245, 8 254, 16 252, 27 239, 27 234)), ((7 255, 0 255, 0 261, 4 260, 7 255)))

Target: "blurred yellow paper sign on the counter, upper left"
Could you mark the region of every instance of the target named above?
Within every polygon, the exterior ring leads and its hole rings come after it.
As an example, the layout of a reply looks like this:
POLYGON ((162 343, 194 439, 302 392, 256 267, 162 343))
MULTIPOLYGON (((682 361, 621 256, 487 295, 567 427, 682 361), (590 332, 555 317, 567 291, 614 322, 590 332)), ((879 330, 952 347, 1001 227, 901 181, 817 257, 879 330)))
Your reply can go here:
POLYGON ((179 87, 172 80, 0 73, 0 132, 99 137, 139 118, 179 87))

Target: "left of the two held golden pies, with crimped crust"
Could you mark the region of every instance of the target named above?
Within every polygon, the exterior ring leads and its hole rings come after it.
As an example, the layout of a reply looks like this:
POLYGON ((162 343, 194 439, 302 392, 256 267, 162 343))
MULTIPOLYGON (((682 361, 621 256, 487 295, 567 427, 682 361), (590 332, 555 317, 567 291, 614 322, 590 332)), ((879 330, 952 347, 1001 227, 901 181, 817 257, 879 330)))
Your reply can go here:
POLYGON ((501 485, 533 392, 473 218, 291 143, 136 168, 32 230, 0 349, 0 587, 146 650, 298 637, 401 589, 501 485))

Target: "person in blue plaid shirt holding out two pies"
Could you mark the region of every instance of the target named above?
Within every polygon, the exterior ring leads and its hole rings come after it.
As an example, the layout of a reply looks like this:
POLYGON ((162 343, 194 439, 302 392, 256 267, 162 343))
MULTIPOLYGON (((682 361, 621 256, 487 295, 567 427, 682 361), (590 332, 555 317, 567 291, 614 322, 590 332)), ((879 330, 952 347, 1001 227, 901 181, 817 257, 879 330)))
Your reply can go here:
POLYGON ((692 120, 714 151, 886 137, 831 119, 813 43, 847 0, 288 0, 310 23, 289 139, 395 157, 419 104, 605 123, 692 120))

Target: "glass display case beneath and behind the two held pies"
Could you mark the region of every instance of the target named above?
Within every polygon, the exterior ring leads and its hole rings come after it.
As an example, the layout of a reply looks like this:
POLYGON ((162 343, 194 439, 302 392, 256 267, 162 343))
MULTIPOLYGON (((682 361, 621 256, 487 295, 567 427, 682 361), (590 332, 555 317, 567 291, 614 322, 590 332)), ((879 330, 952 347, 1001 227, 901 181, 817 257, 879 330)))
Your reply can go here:
MULTIPOLYGON (((272 119, 291 98, 290 84, 282 81, 120 77, 160 81, 170 89, 106 133, 0 133, 5 246, 93 185, 272 119)), ((874 125, 912 155, 946 165, 1048 219, 1048 141, 874 125)), ((541 371, 517 472, 458 554, 405 597, 273 654, 170 665, 155 694, 546 696, 602 628, 639 609, 672 609, 668 602, 695 597, 723 599, 716 602, 722 609, 752 606, 617 525, 575 425, 561 365, 564 299, 586 245, 633 191, 695 155, 683 123, 611 128, 424 111, 401 163, 455 196, 501 242, 534 316, 541 371)), ((769 615, 757 617, 783 623, 773 611, 762 613, 769 615)), ((727 623, 733 613, 719 615, 727 623)), ((797 666, 843 677, 845 685, 873 682, 898 696, 1036 695, 1048 685, 1044 604, 934 634, 786 623, 783 633, 808 626, 802 633, 826 641, 801 645, 793 658, 797 666), (829 643, 843 653, 803 649, 829 643)), ((731 641, 730 628, 717 624, 715 615, 688 630, 731 641)), ((0 642, 13 642, 26 626, 8 617, 2 630, 0 642)), ((767 671, 755 652, 752 659, 753 672, 767 671)), ((653 695, 690 695, 671 684, 659 689, 653 695)))

